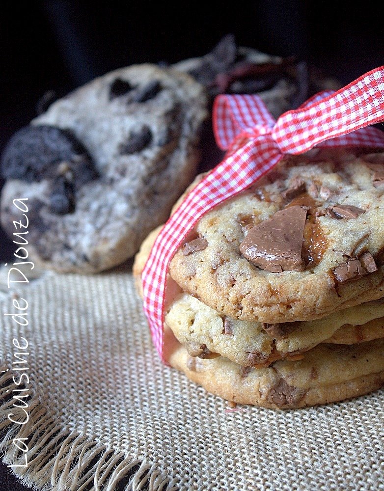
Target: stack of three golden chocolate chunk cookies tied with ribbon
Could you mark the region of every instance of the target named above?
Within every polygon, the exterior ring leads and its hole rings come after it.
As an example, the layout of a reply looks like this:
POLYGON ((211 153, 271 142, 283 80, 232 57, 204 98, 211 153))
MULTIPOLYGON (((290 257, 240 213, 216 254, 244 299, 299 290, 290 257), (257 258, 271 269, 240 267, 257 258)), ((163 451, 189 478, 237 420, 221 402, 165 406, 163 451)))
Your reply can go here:
MULTIPOLYGON (((219 397, 267 408, 380 388, 383 217, 384 153, 286 157, 201 218, 174 255, 169 364, 219 397)), ((159 230, 135 258, 139 291, 159 230)))

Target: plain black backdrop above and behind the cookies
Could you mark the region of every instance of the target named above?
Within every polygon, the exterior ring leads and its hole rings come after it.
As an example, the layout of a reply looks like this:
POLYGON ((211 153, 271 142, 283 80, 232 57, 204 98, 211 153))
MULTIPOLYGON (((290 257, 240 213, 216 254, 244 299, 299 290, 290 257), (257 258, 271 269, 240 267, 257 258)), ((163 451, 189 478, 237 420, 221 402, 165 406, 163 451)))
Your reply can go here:
MULTIPOLYGON (((204 55, 227 33, 239 45, 295 55, 342 84, 384 65, 380 3, 3 2, 0 153, 48 90, 57 98, 114 68, 204 55)), ((0 248, 7 260, 13 248, 1 230, 0 248)), ((0 489, 22 489, 12 483, 0 471, 0 489)))

